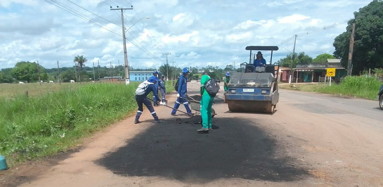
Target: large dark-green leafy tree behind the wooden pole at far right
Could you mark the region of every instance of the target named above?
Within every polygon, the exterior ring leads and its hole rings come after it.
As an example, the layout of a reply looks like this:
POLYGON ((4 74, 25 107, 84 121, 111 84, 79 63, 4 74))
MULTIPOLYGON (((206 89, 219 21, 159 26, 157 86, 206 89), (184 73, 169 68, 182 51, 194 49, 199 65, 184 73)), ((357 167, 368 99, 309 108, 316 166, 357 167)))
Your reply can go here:
POLYGON ((348 22, 346 32, 334 40, 334 56, 340 58, 347 67, 349 42, 352 24, 355 23, 354 52, 352 57, 352 74, 363 69, 383 67, 383 1, 373 0, 367 6, 354 12, 354 19, 348 22))

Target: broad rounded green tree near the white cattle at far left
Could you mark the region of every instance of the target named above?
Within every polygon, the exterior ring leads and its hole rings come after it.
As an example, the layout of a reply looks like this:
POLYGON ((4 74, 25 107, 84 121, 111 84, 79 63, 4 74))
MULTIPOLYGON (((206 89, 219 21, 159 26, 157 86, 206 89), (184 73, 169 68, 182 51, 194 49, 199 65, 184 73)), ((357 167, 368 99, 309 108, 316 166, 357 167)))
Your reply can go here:
MULTIPOLYGON (((39 67, 40 67, 40 79, 43 81, 47 81, 48 74, 46 73, 45 68, 41 65, 39 67)), ((15 79, 19 81, 31 82, 31 81, 39 80, 37 63, 29 62, 29 61, 18 62, 16 63, 15 68, 12 69, 11 75, 12 77, 14 77, 15 79)))

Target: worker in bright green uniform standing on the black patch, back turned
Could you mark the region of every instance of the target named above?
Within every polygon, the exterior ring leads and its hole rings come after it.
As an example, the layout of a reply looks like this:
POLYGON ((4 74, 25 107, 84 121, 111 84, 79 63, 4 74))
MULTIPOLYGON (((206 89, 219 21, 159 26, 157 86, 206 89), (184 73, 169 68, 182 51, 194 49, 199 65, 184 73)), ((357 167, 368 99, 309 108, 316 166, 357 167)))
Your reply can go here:
POLYGON ((201 118, 202 118, 202 128, 198 129, 197 132, 209 132, 211 130, 211 106, 213 105, 214 97, 211 97, 209 93, 205 90, 205 82, 210 79, 209 73, 205 72, 201 77, 201 89, 200 97, 201 98, 201 118))

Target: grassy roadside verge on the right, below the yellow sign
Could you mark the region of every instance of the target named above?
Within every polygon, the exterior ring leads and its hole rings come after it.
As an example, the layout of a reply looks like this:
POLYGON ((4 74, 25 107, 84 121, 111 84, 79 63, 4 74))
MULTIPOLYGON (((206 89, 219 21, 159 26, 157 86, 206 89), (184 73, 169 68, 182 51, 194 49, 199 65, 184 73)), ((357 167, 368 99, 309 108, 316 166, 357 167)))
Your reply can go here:
POLYGON ((340 84, 332 84, 331 87, 329 84, 291 84, 281 85, 280 88, 376 100, 382 84, 376 77, 348 76, 340 84))

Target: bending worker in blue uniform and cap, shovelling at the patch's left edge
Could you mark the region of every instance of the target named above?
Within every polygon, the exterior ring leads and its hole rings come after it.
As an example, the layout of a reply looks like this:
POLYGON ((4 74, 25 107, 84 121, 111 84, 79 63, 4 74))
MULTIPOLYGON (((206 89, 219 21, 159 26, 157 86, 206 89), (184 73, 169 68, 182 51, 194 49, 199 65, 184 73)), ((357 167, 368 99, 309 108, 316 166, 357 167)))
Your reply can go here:
MULTIPOLYGON (((155 98, 157 98, 157 101, 158 102, 160 101, 160 98, 158 97, 158 94, 157 94, 158 89, 155 87, 155 83, 158 82, 158 78, 156 76, 152 76, 147 81, 149 82, 149 85, 148 85, 147 89, 145 90, 145 93, 142 95, 136 94, 136 102, 138 105, 138 110, 137 110, 137 114, 136 114, 136 119, 134 120, 134 124, 141 123, 141 121, 138 121, 138 119, 140 118, 142 111, 144 111, 142 108, 142 104, 144 104, 146 106, 146 108, 150 111, 150 113, 152 114, 152 116, 154 118, 154 123, 162 123, 162 121, 160 121, 158 119, 157 114, 155 114, 152 103, 147 98, 147 95, 150 92, 153 92, 153 95, 155 98), (152 84, 150 84, 150 83, 152 83, 152 84)), ((160 102, 160 104, 161 103, 162 102, 160 102)), ((158 103, 156 103, 156 104, 158 105, 158 103)))

